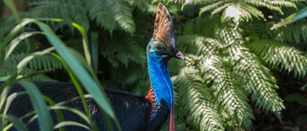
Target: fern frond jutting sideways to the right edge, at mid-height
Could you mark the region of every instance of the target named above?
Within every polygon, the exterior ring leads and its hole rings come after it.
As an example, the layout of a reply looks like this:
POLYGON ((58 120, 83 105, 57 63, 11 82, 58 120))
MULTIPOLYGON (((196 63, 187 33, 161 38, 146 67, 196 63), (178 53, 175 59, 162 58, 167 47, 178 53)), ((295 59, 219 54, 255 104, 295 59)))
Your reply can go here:
POLYGON ((297 78, 303 78, 307 73, 307 57, 294 47, 266 39, 255 41, 247 47, 270 68, 280 68, 288 73, 293 71, 297 78))

